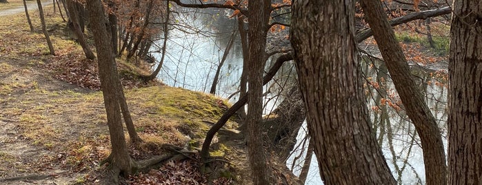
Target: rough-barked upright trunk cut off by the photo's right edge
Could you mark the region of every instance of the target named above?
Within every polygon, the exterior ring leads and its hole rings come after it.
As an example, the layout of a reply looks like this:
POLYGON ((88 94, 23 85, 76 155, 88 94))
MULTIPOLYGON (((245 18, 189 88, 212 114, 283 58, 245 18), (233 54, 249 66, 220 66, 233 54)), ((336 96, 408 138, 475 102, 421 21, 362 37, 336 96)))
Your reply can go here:
POLYGON ((448 184, 482 184, 482 6, 461 0, 452 7, 448 184))

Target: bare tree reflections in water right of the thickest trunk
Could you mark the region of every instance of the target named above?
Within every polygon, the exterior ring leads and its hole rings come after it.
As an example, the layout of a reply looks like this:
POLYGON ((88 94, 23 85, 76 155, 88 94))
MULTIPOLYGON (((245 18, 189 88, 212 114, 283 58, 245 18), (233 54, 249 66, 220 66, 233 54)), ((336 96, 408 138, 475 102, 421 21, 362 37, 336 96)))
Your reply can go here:
MULTIPOLYGON (((405 115, 404 107, 399 101, 394 85, 382 61, 363 57, 363 72, 367 80, 367 100, 370 106, 372 127, 379 145, 382 146, 385 159, 392 168, 394 177, 399 184, 422 184, 423 157, 420 139, 415 127, 405 115)), ((434 71, 412 66, 412 76, 421 87, 425 101, 432 109, 437 124, 446 133, 447 97, 444 86, 432 77, 434 71)), ((443 81, 442 81, 443 82, 443 81)), ((446 138, 445 138, 446 139, 446 138)))

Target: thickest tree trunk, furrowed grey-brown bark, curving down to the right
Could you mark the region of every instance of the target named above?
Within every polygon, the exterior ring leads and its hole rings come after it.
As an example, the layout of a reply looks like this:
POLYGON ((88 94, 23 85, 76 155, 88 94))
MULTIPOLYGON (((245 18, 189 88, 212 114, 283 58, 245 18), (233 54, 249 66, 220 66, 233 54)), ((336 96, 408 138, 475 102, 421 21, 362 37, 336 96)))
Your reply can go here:
POLYGON ((308 131, 325 184, 395 184, 372 135, 354 12, 352 0, 293 1, 290 41, 308 131))

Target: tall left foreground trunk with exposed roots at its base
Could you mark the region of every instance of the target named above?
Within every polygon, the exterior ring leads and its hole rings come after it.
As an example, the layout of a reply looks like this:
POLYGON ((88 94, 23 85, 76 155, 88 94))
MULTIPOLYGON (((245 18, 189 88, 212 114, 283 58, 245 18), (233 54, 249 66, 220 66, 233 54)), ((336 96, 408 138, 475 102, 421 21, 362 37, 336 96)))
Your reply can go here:
POLYGON ((110 133, 110 143, 112 144, 112 164, 114 171, 120 172, 124 176, 132 173, 132 161, 130 159, 123 126, 121 122, 121 111, 119 108, 119 97, 117 96, 117 84, 120 83, 115 58, 110 44, 110 37, 106 29, 105 15, 102 3, 99 0, 87 0, 87 9, 90 14, 92 24, 92 35, 94 35, 95 47, 99 61, 99 77, 103 93, 104 104, 108 127, 110 133))

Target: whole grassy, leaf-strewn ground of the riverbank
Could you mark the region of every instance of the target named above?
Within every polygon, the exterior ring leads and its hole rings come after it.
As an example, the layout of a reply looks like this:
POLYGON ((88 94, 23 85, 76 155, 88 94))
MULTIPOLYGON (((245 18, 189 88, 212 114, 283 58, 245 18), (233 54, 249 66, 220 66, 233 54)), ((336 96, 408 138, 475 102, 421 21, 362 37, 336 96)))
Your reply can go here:
MULTIPOLYGON (((99 166, 110 153, 110 141, 97 65, 70 39, 59 12, 54 14, 52 6, 44 11, 55 56, 48 55, 37 12, 30 12, 34 32, 25 14, 0 19, 0 184, 109 184, 108 168, 99 166)), ((146 68, 123 61, 118 65, 143 139, 139 146, 130 146, 134 159, 165 153, 162 144, 198 148, 210 127, 207 123, 216 122, 228 108, 212 95, 159 82, 144 84, 136 75, 148 72, 146 68)), ((227 124, 234 126, 234 121, 227 124)), ((214 140, 212 155, 231 162, 220 166, 220 175, 211 179, 214 184, 250 184, 244 142, 229 135, 214 140)), ((206 183, 208 177, 199 174, 198 166, 196 159, 167 162, 122 182, 206 183)))

